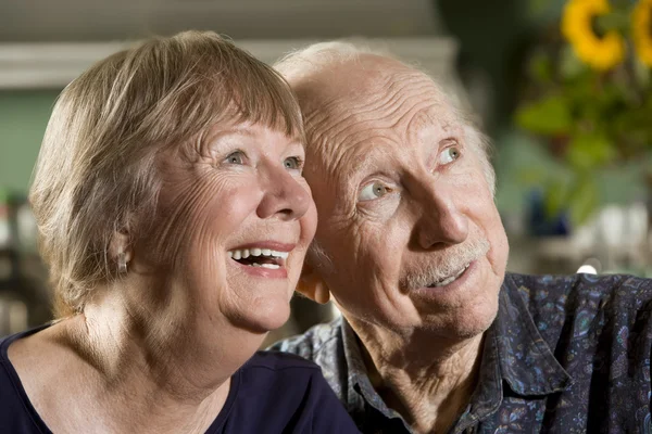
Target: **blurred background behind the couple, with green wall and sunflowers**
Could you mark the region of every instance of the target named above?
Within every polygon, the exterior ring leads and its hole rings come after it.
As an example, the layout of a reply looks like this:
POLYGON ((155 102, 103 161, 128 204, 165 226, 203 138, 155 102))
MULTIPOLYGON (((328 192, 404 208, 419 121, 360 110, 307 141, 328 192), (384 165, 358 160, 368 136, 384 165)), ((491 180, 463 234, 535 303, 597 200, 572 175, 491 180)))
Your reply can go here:
MULTIPOLYGON (((652 277, 651 16, 650 0, 0 0, 0 335, 50 319, 25 197, 58 93, 190 28, 265 62, 353 37, 418 63, 492 138, 511 271, 652 277)), ((293 307, 271 340, 337 314, 293 307)))

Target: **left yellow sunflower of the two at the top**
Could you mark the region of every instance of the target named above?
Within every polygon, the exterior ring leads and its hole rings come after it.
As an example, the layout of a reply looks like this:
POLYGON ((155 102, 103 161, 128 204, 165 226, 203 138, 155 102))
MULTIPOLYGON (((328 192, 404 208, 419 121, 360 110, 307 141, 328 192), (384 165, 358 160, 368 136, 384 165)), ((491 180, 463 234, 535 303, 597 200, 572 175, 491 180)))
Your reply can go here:
POLYGON ((615 30, 593 31, 593 20, 611 11, 607 0, 569 0, 564 8, 562 34, 575 53, 594 69, 607 71, 625 59, 625 40, 615 30))

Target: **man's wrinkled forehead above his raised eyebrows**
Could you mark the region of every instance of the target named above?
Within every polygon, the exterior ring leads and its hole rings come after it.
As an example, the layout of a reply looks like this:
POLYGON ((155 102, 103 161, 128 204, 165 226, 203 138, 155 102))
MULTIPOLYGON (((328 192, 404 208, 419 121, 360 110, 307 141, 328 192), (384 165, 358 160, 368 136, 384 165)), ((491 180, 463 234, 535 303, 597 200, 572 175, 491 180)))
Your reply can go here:
POLYGON ((355 150, 360 144, 385 141, 379 148, 391 150, 392 141, 405 143, 422 130, 444 131, 460 124, 430 77, 389 58, 362 54, 290 84, 302 106, 309 153, 328 173, 344 154, 363 164, 355 150))

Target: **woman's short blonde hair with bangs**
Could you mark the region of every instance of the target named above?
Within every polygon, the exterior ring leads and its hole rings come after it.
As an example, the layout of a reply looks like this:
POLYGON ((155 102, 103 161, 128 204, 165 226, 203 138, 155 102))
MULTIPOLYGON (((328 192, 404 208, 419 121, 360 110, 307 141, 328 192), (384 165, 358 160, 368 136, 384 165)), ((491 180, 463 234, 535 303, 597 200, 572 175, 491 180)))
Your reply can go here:
POLYGON ((161 182, 155 156, 226 119, 303 136, 285 80, 214 33, 147 40, 64 89, 29 193, 58 317, 80 311, 96 285, 116 278, 116 231, 147 232, 161 182))

